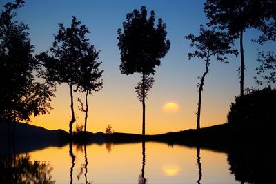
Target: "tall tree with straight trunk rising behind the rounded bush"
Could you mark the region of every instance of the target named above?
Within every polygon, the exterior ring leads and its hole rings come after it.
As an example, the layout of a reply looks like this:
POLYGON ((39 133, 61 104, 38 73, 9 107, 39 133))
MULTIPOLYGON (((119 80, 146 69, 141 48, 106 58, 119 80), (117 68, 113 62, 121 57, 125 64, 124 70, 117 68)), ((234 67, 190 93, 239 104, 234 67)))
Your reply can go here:
MULTIPOLYGON (((244 32, 248 28, 259 28, 266 24, 272 16, 270 6, 273 1, 267 0, 207 0, 204 3, 204 12, 210 20, 209 26, 227 30, 228 34, 239 38, 241 65, 240 95, 244 95, 244 32)), ((275 10, 273 10, 275 11, 275 10)))

